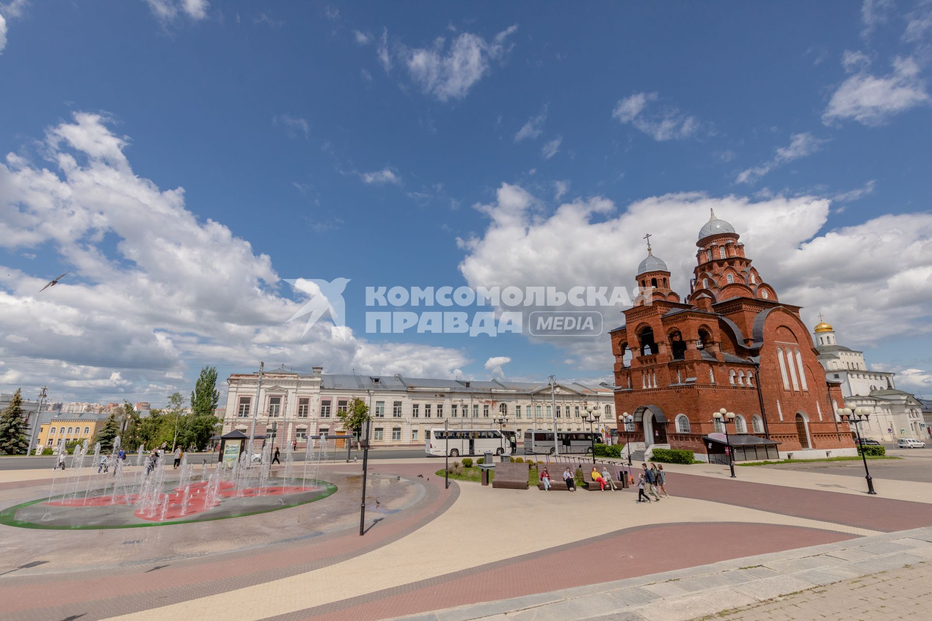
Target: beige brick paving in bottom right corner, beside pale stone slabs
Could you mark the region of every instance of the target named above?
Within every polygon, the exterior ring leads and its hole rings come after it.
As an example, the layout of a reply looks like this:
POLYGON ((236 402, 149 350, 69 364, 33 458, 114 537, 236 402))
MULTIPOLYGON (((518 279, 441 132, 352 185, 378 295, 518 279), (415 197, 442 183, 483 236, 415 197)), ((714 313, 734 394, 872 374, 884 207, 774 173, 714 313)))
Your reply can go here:
POLYGON ((932 618, 932 564, 845 580, 776 601, 715 614, 731 621, 856 621, 932 618))

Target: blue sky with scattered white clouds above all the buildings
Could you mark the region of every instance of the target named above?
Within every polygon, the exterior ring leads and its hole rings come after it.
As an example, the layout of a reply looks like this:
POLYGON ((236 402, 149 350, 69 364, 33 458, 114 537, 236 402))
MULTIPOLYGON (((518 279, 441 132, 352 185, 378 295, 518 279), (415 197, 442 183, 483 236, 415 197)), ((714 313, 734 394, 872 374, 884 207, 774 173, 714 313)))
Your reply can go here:
POLYGON ((366 334, 363 288, 630 287, 650 232, 685 294, 709 207, 807 321, 821 310, 904 387, 932 384, 928 2, 0 16, 2 390, 158 402, 202 364, 259 359, 609 379, 607 338, 366 334), (79 214, 68 236, 51 205, 79 214), (185 236, 209 249, 158 254, 185 236), (351 279, 349 338, 283 324, 296 277, 351 279))

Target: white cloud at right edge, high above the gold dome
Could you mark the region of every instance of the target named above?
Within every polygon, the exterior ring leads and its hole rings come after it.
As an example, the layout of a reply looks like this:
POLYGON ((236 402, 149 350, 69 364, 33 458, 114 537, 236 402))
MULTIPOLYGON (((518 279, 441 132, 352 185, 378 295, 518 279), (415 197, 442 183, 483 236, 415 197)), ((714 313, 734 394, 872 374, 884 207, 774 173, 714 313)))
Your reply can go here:
POLYGON ((893 72, 884 77, 861 71, 847 78, 831 96, 822 122, 831 125, 854 119, 862 125, 878 126, 893 115, 929 102, 919 63, 897 57, 893 72))

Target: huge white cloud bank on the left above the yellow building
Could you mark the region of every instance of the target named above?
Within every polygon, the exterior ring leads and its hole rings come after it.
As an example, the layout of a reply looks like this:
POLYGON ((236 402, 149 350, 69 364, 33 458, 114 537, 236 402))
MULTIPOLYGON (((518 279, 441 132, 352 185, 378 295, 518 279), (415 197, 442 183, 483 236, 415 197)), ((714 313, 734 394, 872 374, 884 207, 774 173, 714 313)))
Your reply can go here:
POLYGON ((16 154, 0 163, 0 247, 42 247, 59 262, 37 266, 36 274, 0 266, 0 334, 16 337, 0 341, 7 360, 0 388, 48 382, 59 399, 97 391, 105 400, 139 393, 158 400, 190 390, 178 384, 179 372, 258 360, 335 372, 461 374, 468 360, 459 350, 369 343, 329 321, 301 339, 303 325, 285 321, 304 300, 279 293, 271 258, 222 223, 199 220, 183 188, 159 189, 134 171, 128 143, 103 116, 77 113, 48 129, 51 168, 16 154), (39 293, 66 270, 67 278, 39 293))

